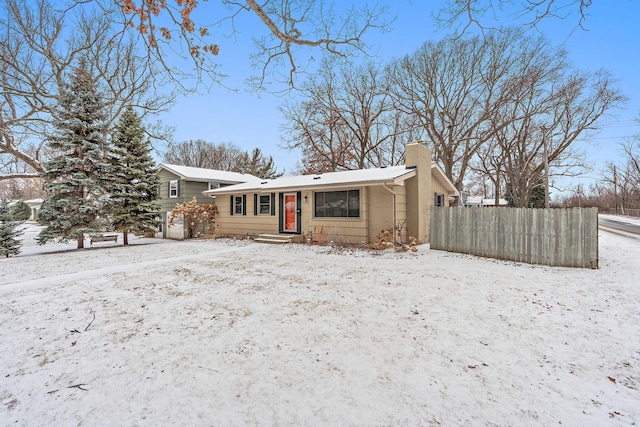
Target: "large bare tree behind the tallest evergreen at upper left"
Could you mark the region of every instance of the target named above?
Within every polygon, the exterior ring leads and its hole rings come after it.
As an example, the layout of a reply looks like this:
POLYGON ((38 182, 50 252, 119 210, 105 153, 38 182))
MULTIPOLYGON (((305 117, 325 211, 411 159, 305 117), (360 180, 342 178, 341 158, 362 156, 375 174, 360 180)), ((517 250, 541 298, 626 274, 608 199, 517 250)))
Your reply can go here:
POLYGON ((44 172, 54 107, 81 56, 106 97, 108 128, 127 105, 143 117, 171 105, 173 96, 157 90, 158 70, 137 54, 133 37, 114 29, 108 11, 59 10, 47 0, 0 7, 0 180, 44 172))

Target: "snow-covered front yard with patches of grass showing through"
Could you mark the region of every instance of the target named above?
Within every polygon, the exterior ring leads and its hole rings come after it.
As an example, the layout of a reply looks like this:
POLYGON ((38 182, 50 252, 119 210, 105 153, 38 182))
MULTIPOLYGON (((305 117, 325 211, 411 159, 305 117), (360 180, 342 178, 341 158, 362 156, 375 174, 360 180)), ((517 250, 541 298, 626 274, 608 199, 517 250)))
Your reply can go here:
POLYGON ((634 425, 640 239, 600 269, 132 239, 0 260, 0 425, 634 425))

